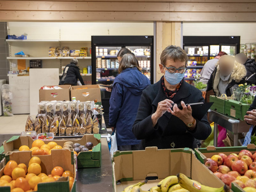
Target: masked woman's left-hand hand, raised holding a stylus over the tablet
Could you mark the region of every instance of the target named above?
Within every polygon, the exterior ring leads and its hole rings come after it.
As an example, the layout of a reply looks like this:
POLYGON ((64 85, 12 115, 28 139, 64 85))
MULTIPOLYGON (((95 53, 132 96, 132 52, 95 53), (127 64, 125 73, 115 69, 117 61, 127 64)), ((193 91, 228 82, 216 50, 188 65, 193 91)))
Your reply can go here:
POLYGON ((155 127, 158 119, 164 115, 166 111, 169 113, 172 111, 172 100, 166 99, 158 103, 156 112, 152 114, 151 119, 153 122, 153 127, 155 127))

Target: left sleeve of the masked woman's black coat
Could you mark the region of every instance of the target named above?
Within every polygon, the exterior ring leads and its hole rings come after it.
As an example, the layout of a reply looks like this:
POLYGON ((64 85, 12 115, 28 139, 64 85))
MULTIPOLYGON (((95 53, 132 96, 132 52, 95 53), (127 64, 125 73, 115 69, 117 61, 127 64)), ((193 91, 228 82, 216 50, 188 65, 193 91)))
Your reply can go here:
POLYGON ((150 137, 150 135, 158 129, 158 124, 153 127, 151 119, 152 105, 151 101, 147 97, 145 90, 142 92, 138 113, 134 124, 132 126, 132 132, 136 139, 142 140, 150 137))

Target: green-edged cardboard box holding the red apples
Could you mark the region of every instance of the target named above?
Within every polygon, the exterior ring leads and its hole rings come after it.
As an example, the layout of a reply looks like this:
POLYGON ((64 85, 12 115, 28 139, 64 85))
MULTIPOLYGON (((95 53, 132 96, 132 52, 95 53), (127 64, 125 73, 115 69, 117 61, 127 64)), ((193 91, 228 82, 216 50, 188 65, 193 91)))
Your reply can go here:
MULTIPOLYGON (((195 155, 197 159, 202 163, 205 164, 206 158, 211 158, 213 155, 218 155, 219 153, 224 153, 225 155, 230 155, 231 153, 239 154, 239 152, 243 149, 249 150, 252 152, 252 154, 255 152, 256 147, 254 144, 249 144, 247 147, 214 147, 214 146, 208 146, 207 148, 196 148, 195 149, 195 155)), ((206 167, 206 166, 205 166, 206 167)), ((217 178, 217 176, 215 176, 217 178)), ((244 192, 242 188, 240 188, 238 185, 232 184, 233 191, 236 192, 244 192)))

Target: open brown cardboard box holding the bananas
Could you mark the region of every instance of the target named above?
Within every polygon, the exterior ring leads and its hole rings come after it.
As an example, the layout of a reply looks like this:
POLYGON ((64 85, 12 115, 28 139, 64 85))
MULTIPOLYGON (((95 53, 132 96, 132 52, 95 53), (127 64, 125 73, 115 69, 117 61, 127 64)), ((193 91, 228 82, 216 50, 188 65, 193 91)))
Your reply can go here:
POLYGON ((203 185, 219 188, 224 183, 196 158, 194 151, 184 149, 157 149, 147 147, 141 151, 117 151, 114 154, 113 176, 114 191, 121 192, 125 187, 145 180, 147 177, 158 177, 148 180, 141 186, 147 191, 157 186, 158 182, 170 175, 183 173, 203 185), (120 180, 121 184, 116 185, 120 180))

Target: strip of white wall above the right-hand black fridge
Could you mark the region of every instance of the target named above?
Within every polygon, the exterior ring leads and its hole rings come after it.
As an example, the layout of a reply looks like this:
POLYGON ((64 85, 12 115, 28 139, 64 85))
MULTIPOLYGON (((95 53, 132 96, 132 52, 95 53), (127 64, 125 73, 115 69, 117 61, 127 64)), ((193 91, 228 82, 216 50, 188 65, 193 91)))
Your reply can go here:
POLYGON ((184 22, 183 36, 241 36, 241 44, 255 43, 256 22, 184 22))

